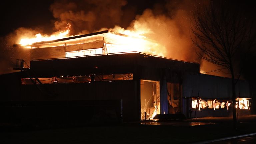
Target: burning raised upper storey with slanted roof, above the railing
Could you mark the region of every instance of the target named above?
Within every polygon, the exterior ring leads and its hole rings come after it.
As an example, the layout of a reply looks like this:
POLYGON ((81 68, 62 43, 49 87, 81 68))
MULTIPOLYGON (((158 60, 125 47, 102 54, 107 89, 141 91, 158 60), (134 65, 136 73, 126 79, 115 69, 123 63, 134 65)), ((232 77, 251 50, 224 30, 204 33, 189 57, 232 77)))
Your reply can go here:
POLYGON ((165 46, 154 40, 120 34, 111 29, 52 41, 36 42, 26 47, 31 48, 30 60, 132 51, 158 56, 165 54, 165 46))

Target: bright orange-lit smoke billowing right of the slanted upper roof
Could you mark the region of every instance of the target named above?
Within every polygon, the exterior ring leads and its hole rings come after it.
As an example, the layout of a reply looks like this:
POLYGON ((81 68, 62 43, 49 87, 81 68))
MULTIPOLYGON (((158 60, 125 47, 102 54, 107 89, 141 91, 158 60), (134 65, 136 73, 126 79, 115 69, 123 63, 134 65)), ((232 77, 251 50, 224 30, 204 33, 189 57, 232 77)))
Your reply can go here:
POLYGON ((179 10, 170 18, 164 14, 154 15, 154 11, 147 9, 142 15, 136 16, 128 28, 134 31, 146 31, 145 36, 156 40, 166 47, 165 56, 173 59, 194 61, 195 53, 189 37, 189 18, 187 12, 179 10))

